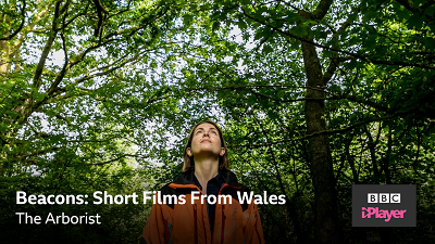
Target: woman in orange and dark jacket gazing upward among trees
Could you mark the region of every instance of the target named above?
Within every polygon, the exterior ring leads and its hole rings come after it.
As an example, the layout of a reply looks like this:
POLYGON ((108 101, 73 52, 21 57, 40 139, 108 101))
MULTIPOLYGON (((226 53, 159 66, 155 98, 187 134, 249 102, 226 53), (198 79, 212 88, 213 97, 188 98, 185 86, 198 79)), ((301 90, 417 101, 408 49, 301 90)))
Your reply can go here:
POLYGON ((152 206, 141 243, 264 243, 253 201, 239 202, 250 191, 229 171, 226 143, 215 123, 194 126, 183 171, 157 194, 179 201, 161 200, 152 206))

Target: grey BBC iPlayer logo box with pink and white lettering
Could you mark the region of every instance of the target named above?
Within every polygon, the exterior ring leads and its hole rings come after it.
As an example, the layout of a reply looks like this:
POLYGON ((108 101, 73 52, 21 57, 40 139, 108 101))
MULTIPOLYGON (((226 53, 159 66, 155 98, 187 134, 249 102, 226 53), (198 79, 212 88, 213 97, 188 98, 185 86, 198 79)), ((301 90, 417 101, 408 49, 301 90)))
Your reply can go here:
POLYGON ((415 227, 415 184, 353 184, 352 227, 415 227))

